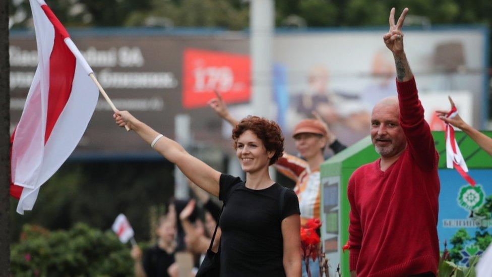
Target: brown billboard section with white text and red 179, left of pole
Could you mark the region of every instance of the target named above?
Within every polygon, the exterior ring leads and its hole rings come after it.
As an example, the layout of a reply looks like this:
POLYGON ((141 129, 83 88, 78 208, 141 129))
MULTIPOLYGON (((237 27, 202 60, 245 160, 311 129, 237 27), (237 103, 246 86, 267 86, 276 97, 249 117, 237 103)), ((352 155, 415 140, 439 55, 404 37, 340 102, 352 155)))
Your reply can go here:
MULTIPOLYGON (((10 40, 11 131, 20 119, 37 66, 34 35, 13 33, 10 40)), ((250 97, 245 36, 141 33, 120 36, 72 32, 72 37, 115 106, 129 110, 171 138, 175 137, 176 115, 188 114, 195 140, 225 142, 220 135, 220 121, 206 106, 206 101, 214 95, 211 88, 216 86, 231 102, 236 98, 248 101, 250 97)), ((224 143, 224 148, 230 146, 224 143)), ((111 108, 99 97, 92 120, 73 156, 148 156, 153 153, 137 135, 127 134, 114 124, 111 108)))

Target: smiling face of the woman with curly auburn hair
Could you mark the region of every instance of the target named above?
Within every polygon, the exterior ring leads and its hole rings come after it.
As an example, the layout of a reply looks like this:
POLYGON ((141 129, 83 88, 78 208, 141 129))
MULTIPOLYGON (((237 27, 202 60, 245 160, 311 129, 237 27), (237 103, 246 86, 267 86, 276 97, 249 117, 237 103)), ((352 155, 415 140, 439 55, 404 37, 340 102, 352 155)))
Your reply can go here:
POLYGON ((273 151, 267 151, 261 139, 251 130, 244 131, 236 141, 236 156, 246 173, 253 173, 268 167, 273 151))

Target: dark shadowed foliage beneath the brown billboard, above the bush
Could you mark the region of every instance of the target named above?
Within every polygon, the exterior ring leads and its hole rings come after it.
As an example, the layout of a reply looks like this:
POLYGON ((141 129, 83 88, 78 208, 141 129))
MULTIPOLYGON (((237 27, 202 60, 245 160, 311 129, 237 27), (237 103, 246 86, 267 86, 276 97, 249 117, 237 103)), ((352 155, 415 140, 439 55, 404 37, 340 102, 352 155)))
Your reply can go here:
MULTIPOLYGON (((173 191, 173 166, 165 161, 66 162, 43 185, 32 211, 11 213, 11 241, 27 223, 57 230, 83 222, 106 230, 119 213, 128 217, 137 240, 148 240, 149 209, 163 205, 173 191)), ((11 202, 15 211, 17 201, 11 202)))

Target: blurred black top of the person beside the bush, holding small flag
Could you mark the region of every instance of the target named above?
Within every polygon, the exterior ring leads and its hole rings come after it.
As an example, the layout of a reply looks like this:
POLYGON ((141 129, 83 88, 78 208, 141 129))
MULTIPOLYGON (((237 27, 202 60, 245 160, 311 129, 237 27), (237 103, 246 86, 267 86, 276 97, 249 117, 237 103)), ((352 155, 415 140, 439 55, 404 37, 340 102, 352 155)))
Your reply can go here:
POLYGON ((167 268, 174 263, 174 253, 167 253, 158 245, 147 249, 143 259, 143 266, 147 277, 169 277, 167 268))

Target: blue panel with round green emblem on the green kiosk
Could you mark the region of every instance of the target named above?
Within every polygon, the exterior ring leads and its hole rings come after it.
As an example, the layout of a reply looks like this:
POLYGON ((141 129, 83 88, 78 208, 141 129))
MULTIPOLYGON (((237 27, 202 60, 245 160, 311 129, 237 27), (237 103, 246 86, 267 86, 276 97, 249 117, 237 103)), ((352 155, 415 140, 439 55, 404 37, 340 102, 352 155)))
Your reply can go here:
POLYGON ((447 243, 453 262, 468 266, 468 258, 480 255, 492 238, 490 170, 473 169, 470 186, 455 170, 440 170, 439 244, 447 243))

